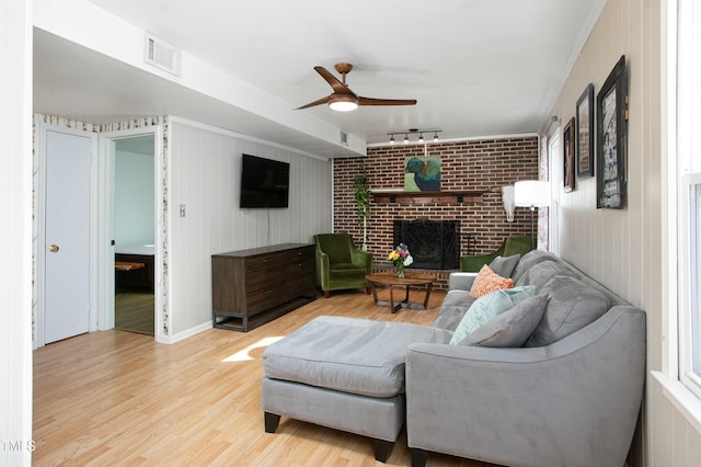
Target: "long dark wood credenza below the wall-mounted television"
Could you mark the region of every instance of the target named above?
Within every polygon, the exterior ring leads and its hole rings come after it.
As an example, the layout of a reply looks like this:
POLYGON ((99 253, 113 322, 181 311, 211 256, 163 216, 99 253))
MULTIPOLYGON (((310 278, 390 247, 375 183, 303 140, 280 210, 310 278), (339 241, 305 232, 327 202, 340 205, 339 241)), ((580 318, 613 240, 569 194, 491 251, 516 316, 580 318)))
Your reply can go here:
POLYGON ((212 326, 246 332, 317 298, 314 246, 211 255, 212 326))

